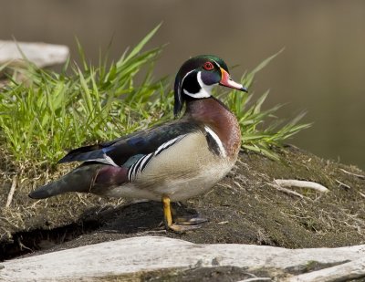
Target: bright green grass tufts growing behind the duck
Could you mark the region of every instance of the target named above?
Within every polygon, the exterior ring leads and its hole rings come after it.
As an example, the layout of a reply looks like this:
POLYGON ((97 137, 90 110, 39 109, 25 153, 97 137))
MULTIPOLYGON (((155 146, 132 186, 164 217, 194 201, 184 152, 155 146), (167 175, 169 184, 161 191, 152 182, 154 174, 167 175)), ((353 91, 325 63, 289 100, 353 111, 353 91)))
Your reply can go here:
MULTIPOLYGON (((93 66, 78 44, 81 66, 68 61, 61 73, 30 63, 27 69, 16 69, 10 83, 0 89, 0 133, 14 160, 55 163, 69 149, 172 119, 172 81, 152 77, 162 47, 143 50, 158 27, 115 62, 100 57, 99 65, 93 66), (19 82, 19 75, 26 82, 19 82)), ((247 72, 244 85, 250 88, 255 73, 272 58, 247 72)), ((261 110, 267 93, 251 103, 250 95, 231 92, 220 97, 240 122, 246 150, 276 158, 272 146, 308 127, 297 123, 301 116, 282 126, 275 119, 268 122, 278 107, 261 110)))

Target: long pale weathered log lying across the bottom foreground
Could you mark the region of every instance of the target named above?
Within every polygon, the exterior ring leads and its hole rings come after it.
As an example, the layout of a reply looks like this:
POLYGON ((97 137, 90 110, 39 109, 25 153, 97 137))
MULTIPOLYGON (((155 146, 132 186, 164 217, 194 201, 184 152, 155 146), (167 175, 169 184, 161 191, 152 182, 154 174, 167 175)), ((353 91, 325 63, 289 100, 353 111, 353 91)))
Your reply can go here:
POLYGON ((265 245, 197 245, 162 236, 141 236, 6 261, 0 264, 4 266, 0 268, 0 280, 88 280, 141 271, 214 266, 300 272, 313 264, 319 268, 346 266, 348 262, 363 260, 364 255, 365 245, 285 249, 265 245))

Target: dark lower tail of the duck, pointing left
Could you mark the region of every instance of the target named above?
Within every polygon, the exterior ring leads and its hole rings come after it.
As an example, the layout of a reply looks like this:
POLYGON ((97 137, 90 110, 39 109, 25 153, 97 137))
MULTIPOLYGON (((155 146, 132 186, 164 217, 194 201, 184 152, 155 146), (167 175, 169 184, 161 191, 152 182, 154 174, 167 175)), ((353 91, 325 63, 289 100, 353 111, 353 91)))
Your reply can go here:
POLYGON ((95 177, 103 164, 81 165, 77 169, 69 172, 54 183, 48 183, 44 186, 36 188, 29 193, 29 197, 33 199, 45 199, 56 196, 60 193, 67 192, 84 192, 90 191, 95 177))

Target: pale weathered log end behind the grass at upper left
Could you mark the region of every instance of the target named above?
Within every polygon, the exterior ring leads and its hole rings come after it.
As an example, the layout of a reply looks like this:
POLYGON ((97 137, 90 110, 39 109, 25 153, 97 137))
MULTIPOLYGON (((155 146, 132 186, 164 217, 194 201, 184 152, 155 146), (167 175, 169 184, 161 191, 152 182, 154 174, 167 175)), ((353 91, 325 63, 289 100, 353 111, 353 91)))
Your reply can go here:
POLYGON ((26 57, 36 67, 43 68, 64 63, 68 55, 68 47, 63 45, 0 40, 0 65, 18 65, 26 57))

